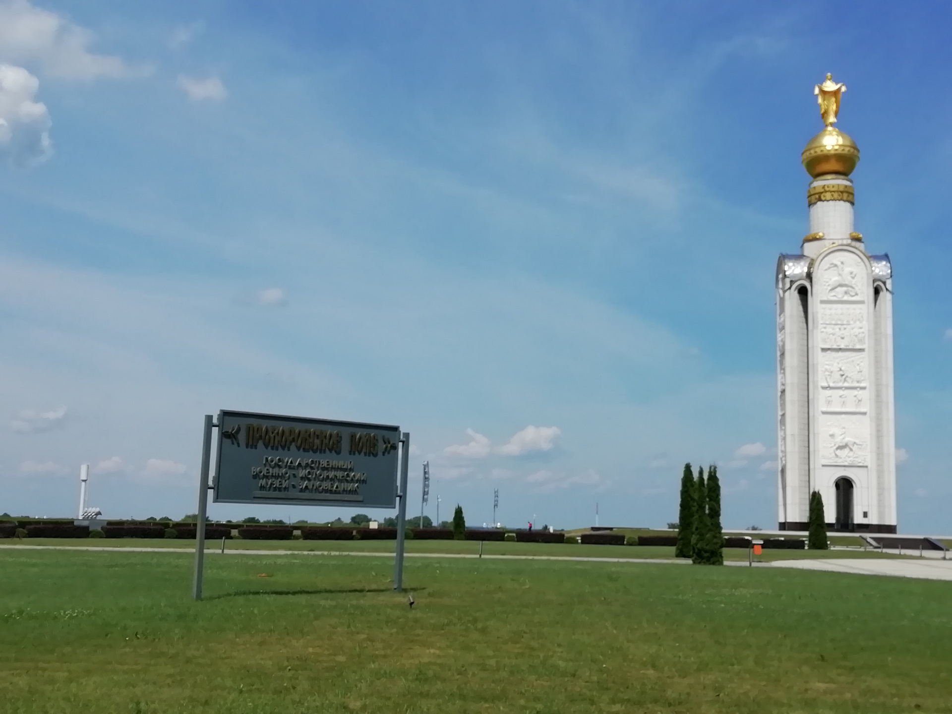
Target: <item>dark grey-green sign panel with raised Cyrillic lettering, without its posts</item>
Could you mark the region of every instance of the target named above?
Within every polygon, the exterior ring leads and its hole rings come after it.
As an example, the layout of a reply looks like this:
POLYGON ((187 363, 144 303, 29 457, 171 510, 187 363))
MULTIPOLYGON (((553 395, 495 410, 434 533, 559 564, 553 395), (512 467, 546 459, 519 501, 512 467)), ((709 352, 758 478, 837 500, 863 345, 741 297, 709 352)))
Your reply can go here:
POLYGON ((393 508, 400 427, 222 411, 214 502, 393 508))

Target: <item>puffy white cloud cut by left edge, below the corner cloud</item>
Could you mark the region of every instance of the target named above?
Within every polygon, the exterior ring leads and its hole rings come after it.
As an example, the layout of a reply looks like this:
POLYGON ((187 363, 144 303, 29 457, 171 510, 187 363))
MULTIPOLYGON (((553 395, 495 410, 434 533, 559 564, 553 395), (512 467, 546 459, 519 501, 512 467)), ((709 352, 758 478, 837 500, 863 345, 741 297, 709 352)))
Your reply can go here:
POLYGON ((34 101, 39 80, 22 67, 0 65, 0 152, 30 166, 52 153, 50 112, 34 101))

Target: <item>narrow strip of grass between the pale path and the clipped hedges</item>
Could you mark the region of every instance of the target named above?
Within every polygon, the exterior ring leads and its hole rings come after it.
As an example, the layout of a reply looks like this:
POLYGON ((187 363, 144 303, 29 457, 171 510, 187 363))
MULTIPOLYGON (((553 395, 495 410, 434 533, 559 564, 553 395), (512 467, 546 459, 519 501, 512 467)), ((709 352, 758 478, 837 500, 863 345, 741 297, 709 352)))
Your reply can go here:
MULTIPOLYGON (((479 543, 475 541, 407 541, 407 553, 448 553, 476 555, 479 553, 479 543)), ((54 545, 58 547, 91 546, 91 547, 162 547, 162 548, 191 548, 195 542, 178 539, 145 539, 145 538, 99 538, 99 539, 66 539, 66 538, 27 538, 23 541, 6 539, 0 545, 54 545)), ((221 541, 208 541, 208 549, 217 549, 221 541)), ((318 552, 371 552, 392 553, 396 544, 394 541, 226 541, 227 550, 302 550, 318 552)), ((656 545, 582 545, 582 544, 554 544, 554 543, 485 543, 485 555, 518 555, 537 556, 548 558, 583 557, 583 558, 662 558, 673 559, 674 548, 656 545)), ((756 560, 774 561, 800 558, 894 558, 894 555, 882 555, 874 551, 844 551, 844 550, 764 550, 763 555, 756 560)), ((911 556, 910 556, 911 557, 911 556)), ((747 551, 743 548, 724 548, 724 560, 746 561, 747 551)))

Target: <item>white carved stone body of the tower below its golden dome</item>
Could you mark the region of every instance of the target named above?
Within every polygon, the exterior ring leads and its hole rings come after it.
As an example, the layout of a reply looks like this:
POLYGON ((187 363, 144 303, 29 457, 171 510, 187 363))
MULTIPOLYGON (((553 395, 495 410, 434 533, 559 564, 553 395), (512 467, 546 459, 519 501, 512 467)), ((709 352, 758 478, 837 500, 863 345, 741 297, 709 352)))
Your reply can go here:
MULTIPOLYGON (((824 184, 852 188, 839 175, 811 188, 824 184)), ((777 266, 778 520, 804 529, 819 490, 835 529, 895 532, 889 258, 850 236, 849 201, 813 204, 810 230, 777 266)))

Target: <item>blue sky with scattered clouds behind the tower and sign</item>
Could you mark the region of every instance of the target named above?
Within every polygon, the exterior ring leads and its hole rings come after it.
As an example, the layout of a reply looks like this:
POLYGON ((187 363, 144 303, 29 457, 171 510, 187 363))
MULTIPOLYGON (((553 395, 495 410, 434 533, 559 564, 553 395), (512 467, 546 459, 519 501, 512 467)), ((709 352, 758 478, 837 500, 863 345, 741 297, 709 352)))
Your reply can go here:
POLYGON ((71 514, 88 462, 109 517, 192 512, 234 408, 403 426, 411 514, 428 459, 441 516, 664 526, 690 461, 774 526, 773 271, 832 71, 900 526, 952 531, 952 11, 838 8, 0 0, 0 511, 71 514))

